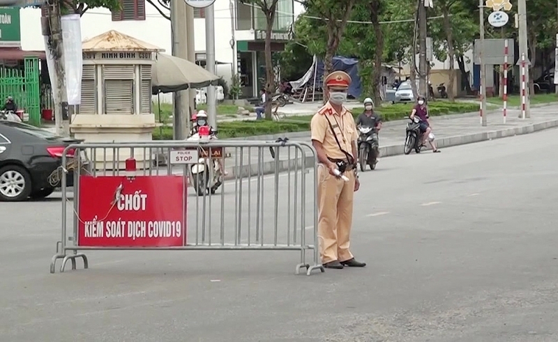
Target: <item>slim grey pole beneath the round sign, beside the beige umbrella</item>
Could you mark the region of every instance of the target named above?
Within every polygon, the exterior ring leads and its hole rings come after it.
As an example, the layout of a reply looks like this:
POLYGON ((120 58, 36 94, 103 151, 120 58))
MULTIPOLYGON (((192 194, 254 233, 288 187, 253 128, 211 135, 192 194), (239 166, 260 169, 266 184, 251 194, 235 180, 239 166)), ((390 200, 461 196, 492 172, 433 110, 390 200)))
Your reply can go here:
MULTIPOLYGON (((205 55, 206 69, 215 75, 215 15, 213 4, 205 8, 205 55)), ((217 127, 217 99, 215 86, 207 86, 207 115, 209 124, 217 127)))

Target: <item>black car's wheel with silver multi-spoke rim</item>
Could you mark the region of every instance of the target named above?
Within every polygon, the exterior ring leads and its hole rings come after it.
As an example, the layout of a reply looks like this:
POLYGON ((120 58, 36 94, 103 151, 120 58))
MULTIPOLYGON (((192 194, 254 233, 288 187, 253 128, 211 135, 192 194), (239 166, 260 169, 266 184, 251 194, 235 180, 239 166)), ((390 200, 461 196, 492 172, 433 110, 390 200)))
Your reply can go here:
POLYGON ((31 194, 31 176, 21 166, 8 165, 0 169, 0 201, 25 201, 31 194))

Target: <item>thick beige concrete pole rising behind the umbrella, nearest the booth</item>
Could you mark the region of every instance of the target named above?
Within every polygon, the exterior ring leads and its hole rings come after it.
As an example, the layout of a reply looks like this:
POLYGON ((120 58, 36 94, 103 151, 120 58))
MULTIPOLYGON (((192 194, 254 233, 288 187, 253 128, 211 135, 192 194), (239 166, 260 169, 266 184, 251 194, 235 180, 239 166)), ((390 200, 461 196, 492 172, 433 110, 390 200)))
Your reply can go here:
MULTIPOLYGON (((186 2, 183 0, 170 1, 170 23, 172 31, 172 55, 188 59, 188 42, 186 41, 186 2)), ((173 138, 183 140, 187 137, 188 127, 188 91, 177 91, 173 96, 174 113, 173 138)))

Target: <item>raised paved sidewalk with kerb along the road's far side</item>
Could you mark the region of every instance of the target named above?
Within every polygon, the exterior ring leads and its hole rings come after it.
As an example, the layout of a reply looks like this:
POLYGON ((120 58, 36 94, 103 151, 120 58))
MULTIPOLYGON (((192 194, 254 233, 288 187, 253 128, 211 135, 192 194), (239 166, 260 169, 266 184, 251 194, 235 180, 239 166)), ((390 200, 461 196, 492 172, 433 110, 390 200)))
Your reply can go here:
MULTIPOLYGON (((445 148, 457 146, 465 143, 475 143, 479 141, 513 137, 519 134, 528 134, 558 127, 558 104, 551 104, 545 107, 531 108, 531 118, 522 120, 518 118, 519 110, 508 110, 506 124, 503 123, 502 110, 491 111, 487 116, 487 126, 481 126, 481 118, 477 113, 457 114, 449 116, 432 117, 432 130, 436 136, 437 146, 445 148)), ((380 156, 388 157, 391 155, 401 155, 403 144, 405 143, 405 127, 407 121, 391 121, 382 126, 379 133, 380 156)), ((249 140, 275 141, 279 137, 288 137, 292 141, 305 141, 310 143, 310 132, 285 133, 269 135, 264 137, 250 137, 249 140)), ((246 140, 246 138, 242 138, 246 140)), ((242 140, 234 139, 234 140, 242 140)), ((225 161, 225 166, 229 170, 229 177, 234 178, 237 174, 246 177, 248 174, 254 176, 258 174, 258 148, 252 148, 252 153, 243 152, 242 158, 239 153, 235 153, 234 148, 227 149, 231 157, 225 161), (242 160, 241 160, 242 159, 242 160)), ((280 153, 278 160, 273 160, 268 148, 262 149, 260 162, 263 164, 264 173, 275 173, 287 171, 289 167, 294 169, 295 164, 301 164, 301 153, 299 162, 294 160, 294 149, 291 149, 290 161, 287 149, 280 153)), ((427 152, 428 153, 428 152, 427 152)), ((310 150, 306 151, 306 164, 314 162, 310 150)))

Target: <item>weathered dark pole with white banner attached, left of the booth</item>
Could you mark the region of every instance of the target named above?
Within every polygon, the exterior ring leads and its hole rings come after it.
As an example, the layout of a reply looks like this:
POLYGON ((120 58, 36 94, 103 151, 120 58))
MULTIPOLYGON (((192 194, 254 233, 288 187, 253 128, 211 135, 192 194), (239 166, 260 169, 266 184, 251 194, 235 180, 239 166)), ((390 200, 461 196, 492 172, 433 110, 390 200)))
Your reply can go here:
POLYGON ((70 136, 70 122, 68 120, 68 91, 66 89, 66 70, 64 68, 64 46, 62 35, 61 1, 54 0, 48 3, 48 24, 50 26, 49 46, 54 56, 54 68, 56 73, 56 89, 54 96, 54 122, 56 123, 56 135, 61 137, 70 136))

